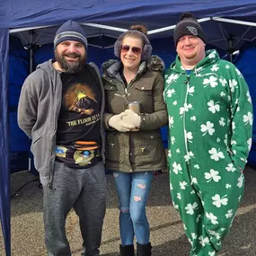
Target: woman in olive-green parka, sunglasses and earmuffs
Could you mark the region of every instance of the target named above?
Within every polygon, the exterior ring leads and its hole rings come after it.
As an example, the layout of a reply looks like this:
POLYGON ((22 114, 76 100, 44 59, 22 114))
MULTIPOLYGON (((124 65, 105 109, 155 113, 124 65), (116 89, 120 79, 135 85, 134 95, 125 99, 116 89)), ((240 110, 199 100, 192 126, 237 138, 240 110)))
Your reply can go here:
POLYGON ((103 64, 106 95, 106 168, 113 171, 119 196, 120 255, 150 256, 146 201, 155 171, 166 168, 160 128, 167 124, 163 102, 163 61, 141 31, 119 36, 115 54, 120 61, 103 64), (128 109, 140 102, 140 111, 128 109))

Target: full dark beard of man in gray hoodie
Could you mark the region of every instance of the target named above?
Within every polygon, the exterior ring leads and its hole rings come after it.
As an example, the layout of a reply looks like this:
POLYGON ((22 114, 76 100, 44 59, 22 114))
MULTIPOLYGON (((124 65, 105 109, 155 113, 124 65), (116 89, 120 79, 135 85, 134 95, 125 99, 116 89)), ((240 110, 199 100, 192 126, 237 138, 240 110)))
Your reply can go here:
POLYGON ((78 73, 82 70, 83 65, 86 63, 86 57, 82 57, 80 54, 76 53, 67 53, 65 55, 58 54, 55 52, 55 58, 61 67, 61 69, 65 70, 66 73, 74 74, 78 73), (68 62, 66 61, 66 57, 78 57, 76 62, 68 62))

